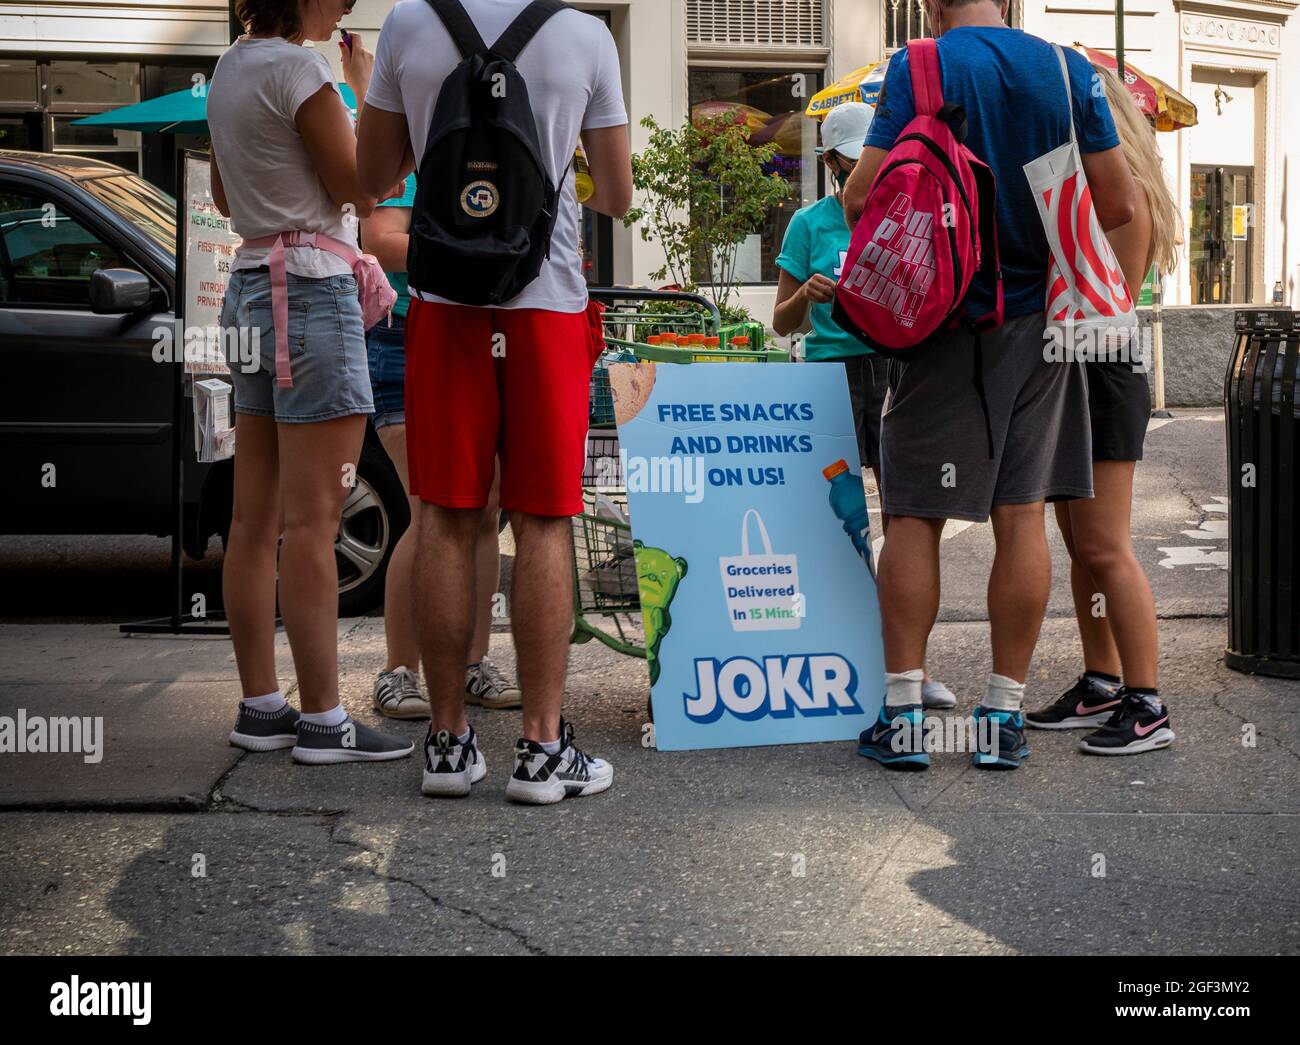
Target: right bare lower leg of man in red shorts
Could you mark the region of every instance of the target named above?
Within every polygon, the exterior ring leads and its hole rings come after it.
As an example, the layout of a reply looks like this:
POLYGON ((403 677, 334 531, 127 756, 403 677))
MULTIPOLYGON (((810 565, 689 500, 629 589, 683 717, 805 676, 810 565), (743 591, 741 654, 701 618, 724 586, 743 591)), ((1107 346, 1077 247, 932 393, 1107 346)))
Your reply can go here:
POLYGON ((568 641, 573 630, 573 537, 568 516, 510 513, 515 530, 511 626, 524 695, 524 737, 560 736, 568 641))

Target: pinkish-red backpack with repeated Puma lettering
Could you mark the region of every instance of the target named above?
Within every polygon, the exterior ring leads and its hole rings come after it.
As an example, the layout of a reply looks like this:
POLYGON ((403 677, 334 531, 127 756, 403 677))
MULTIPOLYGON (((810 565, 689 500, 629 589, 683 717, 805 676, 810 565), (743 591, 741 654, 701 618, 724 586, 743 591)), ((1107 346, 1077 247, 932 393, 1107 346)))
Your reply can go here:
POLYGON ((1002 322, 993 172, 962 144, 966 112, 944 103, 935 40, 910 42, 907 62, 916 116, 871 183, 832 309, 841 328, 887 355, 959 324, 978 335, 1002 322), (997 305, 963 317, 976 272, 996 281, 997 305))

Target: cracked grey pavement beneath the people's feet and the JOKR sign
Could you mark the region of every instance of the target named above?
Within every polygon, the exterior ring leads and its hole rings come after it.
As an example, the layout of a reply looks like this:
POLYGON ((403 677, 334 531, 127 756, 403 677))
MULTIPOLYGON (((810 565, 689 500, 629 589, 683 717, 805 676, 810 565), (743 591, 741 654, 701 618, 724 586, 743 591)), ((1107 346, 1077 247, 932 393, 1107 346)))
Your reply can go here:
MULTIPOLYGON (((1300 685, 1222 664, 1226 542, 1204 507, 1222 425, 1199 416, 1153 432, 1139 469, 1178 732, 1140 758, 1079 755, 1078 733, 1031 733, 1014 773, 939 755, 896 775, 852 743, 658 753, 644 662, 592 643, 573 649, 568 714, 614 762, 611 792, 507 805, 519 715, 472 710, 488 779, 432 801, 417 758, 307 768, 229 747, 222 639, 0 626, 0 715, 105 732, 98 764, 0 756, 0 951, 1300 953, 1300 685)), ((1054 547, 1030 707, 1079 671, 1054 547)), ((944 548, 931 664, 968 712, 988 528, 944 548)), ((344 702, 373 723, 382 621, 339 636, 344 702)), ((508 634, 493 646, 512 668, 508 634)))

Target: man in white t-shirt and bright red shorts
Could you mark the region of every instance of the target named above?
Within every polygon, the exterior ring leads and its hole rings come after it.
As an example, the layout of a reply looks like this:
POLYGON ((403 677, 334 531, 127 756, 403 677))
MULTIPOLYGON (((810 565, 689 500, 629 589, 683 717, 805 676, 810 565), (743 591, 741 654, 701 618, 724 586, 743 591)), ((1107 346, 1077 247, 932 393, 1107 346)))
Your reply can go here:
MULTIPOLYGON (((529 0, 463 0, 491 44, 529 0)), ((424 156, 443 79, 462 60, 432 0, 400 0, 380 34, 359 117, 361 185, 391 186, 424 156)), ((500 507, 517 555, 511 621, 523 737, 508 798, 551 803, 606 790, 614 771, 573 743, 560 717, 572 626, 569 517, 582 507, 588 382, 602 347, 577 248, 572 160, 581 139, 595 192, 586 205, 621 217, 632 201, 619 57, 599 18, 552 14, 515 62, 528 86, 551 183, 560 187, 541 273, 500 307, 462 305, 411 283, 407 456, 420 498, 416 604, 432 723, 425 794, 465 794, 486 772, 465 719, 464 669, 474 604, 480 510, 500 456, 500 507)))

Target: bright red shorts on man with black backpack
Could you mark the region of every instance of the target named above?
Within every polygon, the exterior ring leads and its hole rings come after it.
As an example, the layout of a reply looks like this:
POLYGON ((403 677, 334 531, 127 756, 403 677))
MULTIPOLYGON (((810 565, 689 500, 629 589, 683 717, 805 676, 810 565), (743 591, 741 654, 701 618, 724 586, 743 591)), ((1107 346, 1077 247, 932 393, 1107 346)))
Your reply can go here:
POLYGON ((582 511, 592 367, 603 305, 476 308, 411 298, 406 425, 411 493, 482 508, 500 456, 500 507, 582 511))

